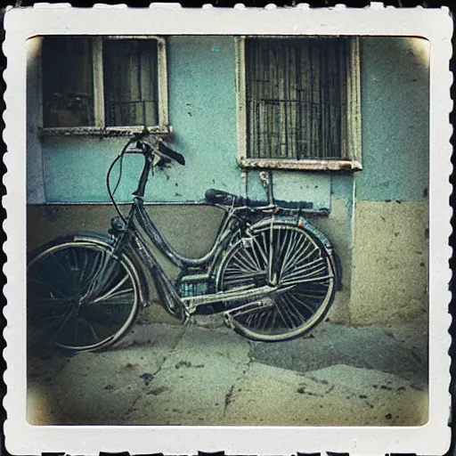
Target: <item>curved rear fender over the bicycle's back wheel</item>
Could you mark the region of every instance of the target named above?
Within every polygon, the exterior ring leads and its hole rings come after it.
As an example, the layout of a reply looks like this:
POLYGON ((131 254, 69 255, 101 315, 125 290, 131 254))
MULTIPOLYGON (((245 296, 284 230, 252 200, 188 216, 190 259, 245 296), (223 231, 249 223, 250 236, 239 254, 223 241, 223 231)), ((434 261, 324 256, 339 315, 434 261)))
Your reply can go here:
MULTIPOLYGON (((253 224, 250 227, 250 230, 254 231, 256 227, 262 226, 263 224, 270 224, 271 218, 272 217, 267 217, 260 220, 256 224, 253 224)), ((274 216, 274 222, 297 225, 299 228, 307 232, 328 254, 336 279, 336 290, 342 289, 342 267, 340 258, 336 249, 333 247, 332 243, 325 234, 323 234, 316 226, 311 224, 303 216, 274 216)))

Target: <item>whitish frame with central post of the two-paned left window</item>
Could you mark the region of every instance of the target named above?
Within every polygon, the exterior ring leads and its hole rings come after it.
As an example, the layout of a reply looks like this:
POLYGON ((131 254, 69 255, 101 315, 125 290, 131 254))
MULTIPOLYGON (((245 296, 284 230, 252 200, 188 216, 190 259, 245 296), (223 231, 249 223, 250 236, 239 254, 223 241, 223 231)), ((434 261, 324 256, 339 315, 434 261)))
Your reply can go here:
MULTIPOLYGON (((65 36, 61 36, 62 38, 65 36)), ((172 126, 169 124, 168 94, 167 94, 167 42, 164 37, 154 35, 103 35, 91 37, 93 56, 93 84, 94 84, 94 126, 43 126, 43 69, 40 64, 38 103, 38 129, 42 135, 131 135, 140 133, 144 126, 105 126, 104 116, 104 82, 103 82, 103 39, 154 39, 157 41, 158 59, 158 92, 159 92, 159 125, 147 126, 150 134, 167 136, 172 134, 172 126)), ((40 53, 42 58, 42 53, 40 53)))

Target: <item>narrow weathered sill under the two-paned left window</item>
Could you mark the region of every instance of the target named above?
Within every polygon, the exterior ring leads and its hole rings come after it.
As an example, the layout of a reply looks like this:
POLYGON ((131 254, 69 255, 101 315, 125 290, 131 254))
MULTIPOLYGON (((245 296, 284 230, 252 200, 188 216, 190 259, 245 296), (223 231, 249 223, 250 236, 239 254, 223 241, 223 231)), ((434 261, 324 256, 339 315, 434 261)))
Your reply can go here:
MULTIPOLYGON (((147 128, 149 134, 169 136, 173 132, 172 126, 151 126, 147 128)), ((40 128, 40 136, 133 136, 142 133, 143 126, 53 126, 40 128)))

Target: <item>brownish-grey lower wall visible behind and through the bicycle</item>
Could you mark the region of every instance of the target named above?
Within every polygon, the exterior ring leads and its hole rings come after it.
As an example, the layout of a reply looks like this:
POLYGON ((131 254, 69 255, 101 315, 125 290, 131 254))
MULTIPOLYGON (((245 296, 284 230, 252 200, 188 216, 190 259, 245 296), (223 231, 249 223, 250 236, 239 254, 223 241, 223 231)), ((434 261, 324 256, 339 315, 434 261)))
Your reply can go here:
MULTIPOLYGON (((333 209, 328 217, 309 216, 315 226, 325 232, 338 249, 344 269, 343 290, 339 291, 330 312, 330 320, 349 321, 351 248, 347 243, 351 230, 351 199, 337 194, 333 209)), ((121 207, 123 211, 127 206, 121 207)), ((148 212, 159 230, 179 253, 196 257, 211 247, 216 239, 218 227, 223 219, 221 209, 206 205, 153 205, 148 212)), ((110 217, 115 216, 113 208, 105 204, 59 204, 47 209, 42 205, 28 206, 28 251, 70 232, 107 232, 110 217)), ((173 268, 166 267, 169 273, 173 268)), ((158 297, 151 288, 151 301, 158 297)), ((175 322, 157 305, 152 305, 144 318, 160 322, 175 322)))

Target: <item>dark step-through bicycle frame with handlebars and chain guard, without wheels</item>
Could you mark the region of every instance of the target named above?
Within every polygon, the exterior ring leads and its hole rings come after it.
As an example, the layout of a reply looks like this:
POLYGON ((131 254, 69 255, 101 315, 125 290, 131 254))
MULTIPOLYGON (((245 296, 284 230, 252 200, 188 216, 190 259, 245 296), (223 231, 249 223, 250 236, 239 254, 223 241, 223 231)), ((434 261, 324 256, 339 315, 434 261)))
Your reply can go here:
MULTIPOLYGON (((124 149, 124 151, 126 151, 126 149, 124 149)), ((229 312, 245 306, 246 302, 248 302, 247 305, 251 305, 255 300, 258 301, 258 305, 267 305, 265 303, 262 304, 261 299, 271 295, 271 293, 275 292, 278 288, 271 269, 272 261, 269 262, 270 267, 267 282, 264 286, 255 287, 254 285, 242 285, 240 287, 230 289, 229 291, 217 292, 214 289, 214 291, 209 293, 185 297, 181 296, 182 293, 180 294, 177 291, 175 282, 167 276, 167 273, 160 265, 159 259, 154 253, 153 248, 156 248, 159 253, 165 256, 173 265, 177 266, 181 270, 181 275, 179 276, 180 278, 185 276, 191 278, 198 277, 198 279, 196 279, 198 283, 204 283, 204 280, 206 280, 207 285, 209 282, 214 284, 216 279, 216 268, 223 256, 223 252, 230 245, 232 245, 233 241, 239 240, 240 237, 245 235, 248 237, 250 224, 270 217, 272 230, 275 214, 277 212, 290 212, 288 209, 279 208, 274 204, 272 182, 270 179, 267 177, 264 179, 265 184, 267 185, 266 190, 268 191, 269 200, 269 204, 265 206, 254 208, 248 206, 247 202, 245 203, 247 205, 242 206, 235 205, 233 202, 231 207, 224 204, 211 203, 212 206, 222 208, 224 210, 226 214, 224 221, 222 222, 219 232, 217 233, 216 240, 213 246, 209 249, 208 253, 199 258, 188 258, 178 254, 167 239, 159 232, 158 227, 151 220, 143 204, 143 196, 148 176, 151 173, 151 169, 155 166, 153 154, 157 153, 157 155, 161 157, 161 160, 165 159, 165 162, 170 161, 167 159, 169 156, 164 157, 163 154, 160 155, 160 151, 152 149, 151 145, 148 143, 143 144, 139 152, 144 156, 144 166, 142 168, 138 188, 133 193, 134 200, 128 216, 125 219, 119 213, 120 217, 126 222, 126 224, 119 230, 117 233, 117 239, 113 242, 115 250, 121 255, 123 248, 126 247, 126 244, 129 245, 133 249, 134 255, 139 258, 142 266, 151 272, 151 276, 155 281, 156 287, 164 290, 167 293, 167 296, 171 297, 174 301, 174 305, 183 309, 184 315, 186 315, 187 318, 190 317, 190 315, 193 314, 201 305, 211 305, 216 303, 231 303, 235 305, 236 302, 240 303, 239 306, 235 306, 234 308, 230 307, 229 310, 224 310, 224 314, 229 314, 229 312), (195 275, 195 273, 197 274, 195 275)), ((134 151, 133 153, 138 152, 134 151)), ((167 153, 179 155, 174 151, 168 151, 167 153)), ((183 158, 182 162, 179 158, 177 158, 177 161, 181 164, 184 163, 183 158)), ((115 204, 114 200, 113 203, 115 204)), ((293 220, 298 222, 299 226, 303 227, 303 224, 307 225, 307 231, 312 232, 322 247, 327 250, 331 258, 331 262, 334 263, 334 259, 332 258, 332 249, 330 248, 330 241, 327 240, 323 234, 320 235, 320 232, 318 232, 315 228, 314 232, 313 230, 308 229, 312 225, 308 224, 304 217, 300 217, 300 209, 291 210, 291 213, 294 214, 293 220)), ((270 246, 270 259, 272 259, 273 256, 272 248, 273 247, 270 246)), ((333 270, 335 270, 335 268, 333 270)), ((179 283, 181 284, 182 282, 179 281, 179 283)))

